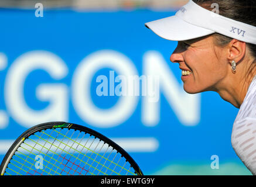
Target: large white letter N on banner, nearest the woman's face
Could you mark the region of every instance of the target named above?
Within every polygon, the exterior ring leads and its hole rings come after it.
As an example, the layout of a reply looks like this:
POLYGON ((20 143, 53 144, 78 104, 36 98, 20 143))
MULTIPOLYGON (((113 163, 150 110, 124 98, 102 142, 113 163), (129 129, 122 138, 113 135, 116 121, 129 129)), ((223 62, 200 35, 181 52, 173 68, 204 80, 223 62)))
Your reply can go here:
MULTIPOLYGON (((194 126, 200 119, 200 94, 186 93, 176 81, 175 76, 157 51, 148 51, 143 60, 144 75, 159 76, 160 91, 172 106, 180 122, 194 126)), ((142 98, 142 123, 155 126, 159 122, 160 102, 149 102, 147 96, 142 98)))

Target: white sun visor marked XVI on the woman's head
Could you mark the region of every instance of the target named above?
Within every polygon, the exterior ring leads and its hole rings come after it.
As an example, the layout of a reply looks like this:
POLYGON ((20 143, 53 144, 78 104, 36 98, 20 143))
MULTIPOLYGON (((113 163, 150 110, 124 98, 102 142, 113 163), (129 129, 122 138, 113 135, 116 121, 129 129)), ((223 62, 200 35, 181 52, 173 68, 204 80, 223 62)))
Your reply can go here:
POLYGON ((183 41, 213 33, 256 44, 256 27, 226 18, 204 9, 190 0, 175 16, 145 23, 158 36, 167 40, 183 41))

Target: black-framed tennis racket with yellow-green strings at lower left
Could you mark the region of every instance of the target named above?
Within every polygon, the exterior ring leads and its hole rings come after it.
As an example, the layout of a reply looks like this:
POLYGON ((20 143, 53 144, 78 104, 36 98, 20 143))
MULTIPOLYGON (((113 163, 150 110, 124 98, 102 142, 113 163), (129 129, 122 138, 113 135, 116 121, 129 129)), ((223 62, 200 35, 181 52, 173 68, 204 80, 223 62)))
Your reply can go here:
POLYGON ((66 122, 38 124, 19 136, 0 166, 1 175, 143 175, 114 141, 66 122))

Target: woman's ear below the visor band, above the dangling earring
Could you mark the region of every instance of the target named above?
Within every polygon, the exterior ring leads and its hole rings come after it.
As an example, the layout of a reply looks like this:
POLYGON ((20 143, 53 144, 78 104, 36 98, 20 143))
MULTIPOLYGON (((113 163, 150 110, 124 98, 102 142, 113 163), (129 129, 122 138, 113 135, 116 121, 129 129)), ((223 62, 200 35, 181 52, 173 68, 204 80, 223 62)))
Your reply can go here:
POLYGON ((239 41, 233 39, 228 44, 228 61, 235 61, 239 63, 243 60, 246 51, 246 43, 244 41, 239 41))

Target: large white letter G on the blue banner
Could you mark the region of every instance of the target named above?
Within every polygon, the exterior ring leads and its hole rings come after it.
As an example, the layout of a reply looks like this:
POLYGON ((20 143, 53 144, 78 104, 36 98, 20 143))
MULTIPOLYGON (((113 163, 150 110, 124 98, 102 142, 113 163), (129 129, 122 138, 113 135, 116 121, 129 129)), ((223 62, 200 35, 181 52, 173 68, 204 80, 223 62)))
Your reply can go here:
POLYGON ((49 121, 66 121, 68 117, 68 95, 65 84, 41 84, 36 96, 49 101, 46 109, 33 110, 26 105, 23 86, 26 77, 33 70, 45 70, 53 79, 66 77, 68 68, 64 61, 47 51, 30 51, 13 61, 5 81, 5 102, 8 112, 16 122, 25 127, 49 121))

